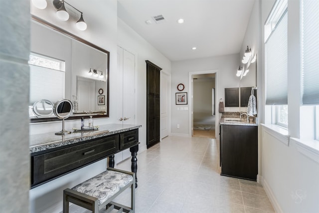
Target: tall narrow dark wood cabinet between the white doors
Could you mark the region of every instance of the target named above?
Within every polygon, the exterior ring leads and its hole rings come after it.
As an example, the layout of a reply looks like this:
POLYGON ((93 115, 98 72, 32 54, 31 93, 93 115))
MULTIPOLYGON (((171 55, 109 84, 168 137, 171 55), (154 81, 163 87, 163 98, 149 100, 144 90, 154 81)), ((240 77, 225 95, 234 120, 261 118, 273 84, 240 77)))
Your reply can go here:
POLYGON ((146 61, 146 145, 147 148, 160 142, 160 70, 151 61, 146 61))

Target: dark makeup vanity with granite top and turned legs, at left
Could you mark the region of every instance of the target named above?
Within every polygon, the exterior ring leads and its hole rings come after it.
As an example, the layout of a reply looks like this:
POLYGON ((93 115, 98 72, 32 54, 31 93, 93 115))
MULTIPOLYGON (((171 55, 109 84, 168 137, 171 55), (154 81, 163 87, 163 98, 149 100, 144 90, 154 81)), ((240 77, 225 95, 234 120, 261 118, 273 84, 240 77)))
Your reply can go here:
POLYGON ((114 154, 125 149, 131 151, 132 172, 136 173, 140 127, 108 124, 97 131, 62 136, 30 135, 31 189, 107 157, 109 167, 114 167, 114 154))

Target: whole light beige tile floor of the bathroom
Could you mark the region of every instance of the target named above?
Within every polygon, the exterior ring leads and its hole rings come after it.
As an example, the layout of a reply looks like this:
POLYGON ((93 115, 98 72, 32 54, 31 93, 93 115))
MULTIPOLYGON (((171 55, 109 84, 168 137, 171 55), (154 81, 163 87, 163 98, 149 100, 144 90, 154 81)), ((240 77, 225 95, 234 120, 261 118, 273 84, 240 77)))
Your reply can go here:
MULTIPOLYGON (((260 184, 220 176, 218 149, 215 139, 170 136, 139 153, 136 213, 274 212, 260 184)), ((130 171, 131 159, 117 168, 130 171)), ((130 191, 116 202, 130 206, 130 191)))

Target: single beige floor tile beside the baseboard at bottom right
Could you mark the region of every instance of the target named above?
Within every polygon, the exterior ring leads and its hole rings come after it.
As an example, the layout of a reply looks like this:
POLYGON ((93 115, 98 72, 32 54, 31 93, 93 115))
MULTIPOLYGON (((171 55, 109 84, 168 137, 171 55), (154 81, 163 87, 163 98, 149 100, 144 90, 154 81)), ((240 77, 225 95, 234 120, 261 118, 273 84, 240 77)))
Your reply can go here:
POLYGON ((242 194, 245 206, 260 209, 263 211, 274 212, 274 209, 267 196, 245 192, 243 192, 242 194))

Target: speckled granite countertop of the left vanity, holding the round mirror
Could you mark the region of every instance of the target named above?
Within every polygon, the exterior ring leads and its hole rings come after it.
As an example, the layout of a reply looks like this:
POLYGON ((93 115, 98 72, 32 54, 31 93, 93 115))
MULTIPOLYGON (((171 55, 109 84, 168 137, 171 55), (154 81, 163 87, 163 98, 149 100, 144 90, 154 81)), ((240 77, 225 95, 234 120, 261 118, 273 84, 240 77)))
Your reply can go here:
POLYGON ((130 124, 107 124, 100 125, 98 130, 89 132, 74 132, 69 135, 55 135, 55 132, 30 135, 30 153, 36 153, 56 147, 75 144, 82 141, 87 141, 95 138, 100 138, 108 135, 113 135, 129 130, 134 130, 142 127, 142 125, 130 124))

